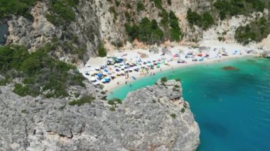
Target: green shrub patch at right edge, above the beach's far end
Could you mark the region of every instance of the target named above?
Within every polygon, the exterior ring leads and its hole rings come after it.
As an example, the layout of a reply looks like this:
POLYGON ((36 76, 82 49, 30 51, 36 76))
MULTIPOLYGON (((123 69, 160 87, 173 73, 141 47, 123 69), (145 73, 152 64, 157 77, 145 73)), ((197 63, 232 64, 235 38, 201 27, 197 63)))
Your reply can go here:
POLYGON ((260 42, 270 33, 270 22, 266 18, 259 18, 257 21, 249 23, 247 26, 240 26, 235 32, 234 38, 239 42, 247 45, 248 43, 260 42))

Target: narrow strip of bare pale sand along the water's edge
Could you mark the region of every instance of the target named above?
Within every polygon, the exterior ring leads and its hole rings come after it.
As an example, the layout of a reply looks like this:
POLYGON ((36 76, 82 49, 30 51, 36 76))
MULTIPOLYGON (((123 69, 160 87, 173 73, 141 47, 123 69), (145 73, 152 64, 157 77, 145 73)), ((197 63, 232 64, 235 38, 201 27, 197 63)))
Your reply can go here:
MULTIPOLYGON (((259 57, 259 55, 253 55, 253 54, 251 54, 251 55, 234 55, 234 56, 228 56, 228 57, 222 57, 222 58, 212 58, 209 60, 205 60, 204 62, 189 62, 186 64, 178 64, 178 65, 175 65, 175 67, 173 67, 173 68, 166 66, 166 67, 162 68, 162 71, 158 71, 159 69, 153 69, 153 70, 151 70, 151 72, 157 74, 157 73, 168 71, 170 69, 181 69, 183 67, 190 67, 193 65, 214 64, 217 62, 225 62, 227 60, 237 60, 237 59, 243 58, 243 57, 259 57)), ((138 77, 136 77, 136 79, 123 79, 124 77, 119 77, 117 79, 112 80, 112 82, 110 82, 109 84, 105 84, 103 89, 104 89, 104 91, 107 91, 107 93, 110 93, 114 89, 117 89, 120 86, 125 85, 125 82, 123 82, 123 80, 126 81, 127 84, 129 84, 129 82, 135 82, 138 79, 142 79, 144 77, 149 77, 149 76, 153 76, 153 75, 150 75, 150 74, 147 74, 146 76, 138 75, 138 77), (119 82, 119 84, 117 84, 117 82, 119 82)))

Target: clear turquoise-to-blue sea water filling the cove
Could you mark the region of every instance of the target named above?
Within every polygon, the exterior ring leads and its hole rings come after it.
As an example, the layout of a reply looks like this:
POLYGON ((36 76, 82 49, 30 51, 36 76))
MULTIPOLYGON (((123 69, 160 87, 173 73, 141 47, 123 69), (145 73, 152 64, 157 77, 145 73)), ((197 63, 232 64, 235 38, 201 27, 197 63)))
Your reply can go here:
POLYGON ((182 81, 201 130, 199 151, 270 150, 270 60, 242 58, 170 70, 121 86, 108 98, 124 99, 164 76, 182 81), (228 65, 239 70, 222 69, 228 65))

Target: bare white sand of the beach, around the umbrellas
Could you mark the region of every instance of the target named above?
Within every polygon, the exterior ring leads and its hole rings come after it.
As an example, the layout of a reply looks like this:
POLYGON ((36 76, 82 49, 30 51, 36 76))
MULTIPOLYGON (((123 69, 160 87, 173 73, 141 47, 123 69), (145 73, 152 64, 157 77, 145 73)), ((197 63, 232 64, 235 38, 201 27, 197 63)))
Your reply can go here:
MULTIPOLYGON (((141 60, 141 62, 153 62, 153 60, 163 60, 160 68, 154 67, 153 69, 148 70, 140 70, 139 72, 129 72, 129 78, 126 78, 124 75, 117 76, 115 79, 111 79, 110 82, 104 83, 104 91, 112 91, 117 86, 121 84, 129 83, 141 77, 146 77, 150 74, 161 72, 166 69, 178 68, 178 67, 186 67, 187 65, 195 65, 195 64, 209 64, 212 62, 219 62, 222 60, 235 59, 238 57, 244 56, 256 56, 259 55, 261 50, 258 50, 257 47, 244 47, 238 44, 227 44, 227 43, 203 43, 200 47, 192 48, 190 46, 182 46, 177 45, 175 47, 168 47, 169 52, 165 55, 161 55, 161 50, 163 47, 157 47, 159 52, 155 54, 154 52, 149 52, 149 50, 121 50, 108 52, 110 57, 119 57, 128 62, 137 62, 137 60, 141 60), (203 47, 207 47, 207 51, 203 51, 203 47), (202 50, 202 51, 200 51, 202 50), (250 51, 252 50, 252 51, 250 51), (193 53, 190 58, 186 58, 188 53, 193 53), (139 53, 144 53, 146 58, 141 58, 139 53), (179 54, 179 57, 175 57, 175 54, 179 54), (209 57, 199 57, 198 54, 209 55, 209 57), (223 56, 223 54, 227 54, 227 56, 223 56), (173 57, 174 55, 174 57, 173 57), (194 61, 194 59, 198 59, 198 61, 194 61), (184 60, 185 63, 178 63, 179 60, 184 60), (201 61, 199 61, 201 60, 201 61), (164 63, 165 62, 165 63, 164 63), (135 77, 136 79, 132 78, 135 77)), ((79 71, 89 80, 91 80, 96 75, 86 74, 90 72, 94 72, 96 68, 100 68, 102 65, 107 65, 108 57, 96 57, 90 58, 85 67, 79 69, 79 71)), ((131 67, 131 69, 146 67, 144 64, 138 64, 135 67, 131 67)), ((108 66, 109 74, 116 74, 115 67, 113 65, 108 66)), ((124 69, 123 69, 124 70, 124 69)), ((99 70, 102 73, 102 69, 99 70)), ((121 72, 121 70, 120 70, 121 72)), ((98 81, 98 80, 97 80, 98 81)), ((102 82, 99 82, 102 84, 102 82)))

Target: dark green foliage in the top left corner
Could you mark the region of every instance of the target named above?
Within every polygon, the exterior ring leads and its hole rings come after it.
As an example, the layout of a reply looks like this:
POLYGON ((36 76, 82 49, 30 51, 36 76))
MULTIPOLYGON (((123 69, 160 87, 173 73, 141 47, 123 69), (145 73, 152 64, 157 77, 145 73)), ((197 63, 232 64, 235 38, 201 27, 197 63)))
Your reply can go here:
POLYGON ((0 0, 0 18, 11 15, 31 18, 31 7, 36 0, 0 0))

